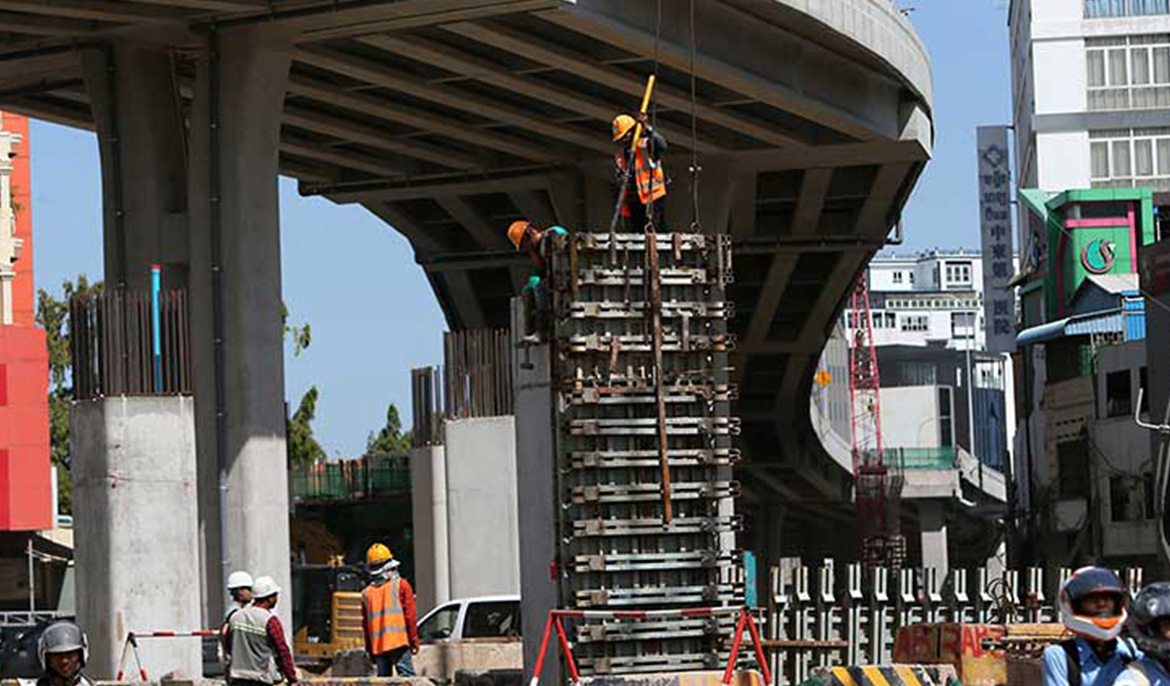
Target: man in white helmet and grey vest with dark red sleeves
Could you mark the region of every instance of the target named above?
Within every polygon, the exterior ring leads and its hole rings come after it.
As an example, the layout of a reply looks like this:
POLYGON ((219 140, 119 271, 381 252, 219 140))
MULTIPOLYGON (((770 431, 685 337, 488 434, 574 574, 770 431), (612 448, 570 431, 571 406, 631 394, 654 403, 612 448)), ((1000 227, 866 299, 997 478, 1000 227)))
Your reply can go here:
POLYGON ((273 612, 281 588, 273 577, 262 576, 252 591, 252 604, 232 612, 228 620, 225 639, 228 684, 267 686, 280 682, 283 677, 291 686, 296 684, 292 651, 284 639, 280 617, 273 612))

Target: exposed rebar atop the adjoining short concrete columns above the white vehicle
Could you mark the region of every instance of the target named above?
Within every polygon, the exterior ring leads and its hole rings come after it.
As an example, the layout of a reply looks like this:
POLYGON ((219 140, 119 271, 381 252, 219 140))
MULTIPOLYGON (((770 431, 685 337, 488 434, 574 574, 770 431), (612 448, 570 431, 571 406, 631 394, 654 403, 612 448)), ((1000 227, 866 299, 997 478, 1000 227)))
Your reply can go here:
POLYGON ((411 371, 415 447, 442 443, 443 419, 512 413, 511 341, 508 329, 443 334, 443 365, 411 371))

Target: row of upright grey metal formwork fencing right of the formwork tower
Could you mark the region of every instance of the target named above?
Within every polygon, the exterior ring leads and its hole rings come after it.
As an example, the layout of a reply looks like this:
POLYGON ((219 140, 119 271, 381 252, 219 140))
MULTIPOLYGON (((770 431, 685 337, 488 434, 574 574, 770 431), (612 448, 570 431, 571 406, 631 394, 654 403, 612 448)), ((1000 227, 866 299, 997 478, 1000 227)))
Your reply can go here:
MULTIPOLYGON (((799 684, 813 668, 885 665, 894 658, 902 626, 917 623, 1057 622, 1053 606, 1069 570, 1041 568, 992 575, 986 569, 875 569, 860 564, 806 567, 782 561, 771 570, 766 633, 772 640, 844 642, 847 647, 779 651, 772 656, 777 684, 799 684)), ((1136 592, 1142 570, 1121 576, 1136 592)))

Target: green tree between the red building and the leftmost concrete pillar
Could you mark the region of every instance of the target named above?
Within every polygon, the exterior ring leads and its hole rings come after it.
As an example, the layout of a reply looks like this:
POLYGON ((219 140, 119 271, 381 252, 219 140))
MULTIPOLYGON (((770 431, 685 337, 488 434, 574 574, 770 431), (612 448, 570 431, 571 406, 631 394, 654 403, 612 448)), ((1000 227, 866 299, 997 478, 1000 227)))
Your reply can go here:
POLYGON ((73 357, 69 335, 69 300, 74 295, 102 293, 102 282, 90 283, 84 274, 77 282, 61 284, 58 300, 47 290, 36 291, 36 323, 44 329, 49 351, 49 455, 57 471, 57 503, 62 513, 73 513, 73 478, 69 473, 69 407, 73 403, 73 357))

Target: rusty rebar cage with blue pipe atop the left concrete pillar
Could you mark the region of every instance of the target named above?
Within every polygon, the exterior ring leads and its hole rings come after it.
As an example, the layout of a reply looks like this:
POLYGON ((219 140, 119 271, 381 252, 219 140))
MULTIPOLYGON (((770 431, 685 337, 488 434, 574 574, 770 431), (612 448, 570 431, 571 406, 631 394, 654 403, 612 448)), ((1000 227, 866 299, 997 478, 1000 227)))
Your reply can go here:
POLYGON ((74 398, 191 393, 187 296, 124 289, 69 301, 74 398))

